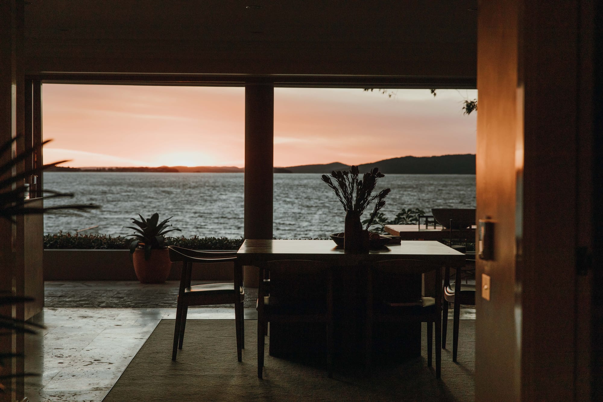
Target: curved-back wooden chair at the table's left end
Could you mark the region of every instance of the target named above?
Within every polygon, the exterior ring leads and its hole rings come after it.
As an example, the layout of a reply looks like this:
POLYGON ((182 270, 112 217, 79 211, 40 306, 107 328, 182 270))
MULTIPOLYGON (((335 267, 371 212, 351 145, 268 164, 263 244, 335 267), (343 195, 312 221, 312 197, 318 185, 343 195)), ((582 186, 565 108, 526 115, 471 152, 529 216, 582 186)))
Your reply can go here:
POLYGON ((189 306, 234 304, 236 328, 236 353, 239 362, 242 359, 242 350, 245 348, 244 310, 243 301, 245 290, 241 265, 236 258, 236 251, 213 252, 185 249, 183 247, 169 246, 169 260, 172 263, 182 262, 180 275, 180 288, 178 289, 178 304, 176 308, 176 323, 174 327, 174 345, 172 346, 172 360, 176 360, 178 349, 182 349, 185 336, 186 314, 189 306), (232 283, 211 283, 191 286, 193 264, 234 264, 234 281, 232 283))

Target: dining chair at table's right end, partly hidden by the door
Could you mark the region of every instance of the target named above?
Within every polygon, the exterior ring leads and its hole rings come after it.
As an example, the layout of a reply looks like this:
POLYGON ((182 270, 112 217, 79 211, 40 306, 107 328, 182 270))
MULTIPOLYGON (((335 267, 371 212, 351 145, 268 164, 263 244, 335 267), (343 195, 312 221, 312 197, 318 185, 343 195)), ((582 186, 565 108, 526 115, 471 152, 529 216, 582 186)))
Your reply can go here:
MULTIPOLYGON (((468 255, 470 256, 470 255, 468 255)), ((452 361, 456 362, 456 354, 458 351, 458 328, 461 319, 461 304, 475 305, 475 284, 463 283, 461 274, 463 272, 471 272, 475 270, 475 254, 474 259, 467 258, 467 266, 456 269, 455 282, 450 284, 450 267, 444 270, 444 299, 442 302, 442 348, 446 349, 446 332, 448 330, 448 305, 454 304, 452 314, 452 361), (473 262, 473 264, 472 264, 473 262)))

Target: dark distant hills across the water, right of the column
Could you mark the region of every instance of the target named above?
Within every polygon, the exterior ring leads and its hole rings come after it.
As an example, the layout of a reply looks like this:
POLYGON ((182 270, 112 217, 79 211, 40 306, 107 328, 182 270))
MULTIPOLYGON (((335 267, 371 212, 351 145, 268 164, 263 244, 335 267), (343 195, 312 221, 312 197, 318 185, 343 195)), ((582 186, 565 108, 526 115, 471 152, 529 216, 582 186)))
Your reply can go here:
MULTIPOLYGON (((475 174, 475 155, 402 156, 359 165, 361 173, 378 167, 381 173, 400 174, 475 174)), ((349 165, 333 162, 325 165, 301 165, 285 167, 292 173, 331 173, 345 170, 349 165)))

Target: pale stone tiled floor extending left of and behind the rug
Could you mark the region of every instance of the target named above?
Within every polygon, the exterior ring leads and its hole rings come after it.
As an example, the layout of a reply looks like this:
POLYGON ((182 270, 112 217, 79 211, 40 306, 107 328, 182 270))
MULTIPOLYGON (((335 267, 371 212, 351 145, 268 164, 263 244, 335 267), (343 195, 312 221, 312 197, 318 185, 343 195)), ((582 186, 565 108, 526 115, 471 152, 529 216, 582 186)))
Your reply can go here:
MULTIPOLYGON (((161 290, 172 286, 141 286, 137 282, 47 282, 46 292, 54 295, 52 298, 61 299, 62 305, 71 298, 78 304, 97 303, 98 306, 99 301, 114 292, 130 289, 124 292, 122 301, 136 305, 134 301, 153 299, 153 295, 160 295, 161 290), (82 294, 77 294, 79 292, 82 294)), ((248 294, 254 291, 251 289, 248 294)), ((26 395, 32 402, 102 401, 159 321, 174 317, 175 305, 171 308, 46 307, 35 317, 46 329, 26 339, 26 371, 42 374, 27 379, 26 395)), ((234 317, 233 308, 224 307, 190 308, 188 314, 189 319, 234 317)), ((475 309, 462 309, 461 318, 475 319, 475 309)), ((245 308, 245 319, 257 319, 254 308, 245 308)))

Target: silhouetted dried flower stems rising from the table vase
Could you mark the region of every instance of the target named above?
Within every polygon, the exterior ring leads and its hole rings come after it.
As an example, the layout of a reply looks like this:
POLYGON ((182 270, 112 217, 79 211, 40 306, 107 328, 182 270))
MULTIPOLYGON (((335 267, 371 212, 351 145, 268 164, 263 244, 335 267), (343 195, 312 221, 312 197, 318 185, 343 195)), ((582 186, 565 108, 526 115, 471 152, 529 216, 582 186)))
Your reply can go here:
POLYGON ((373 170, 364 173, 362 180, 359 180, 358 176, 358 166, 352 166, 349 171, 338 170, 331 172, 330 177, 335 179, 336 186, 326 174, 323 174, 321 179, 335 192, 339 202, 343 205, 344 211, 355 212, 355 214, 358 214, 358 217, 362 215, 371 202, 376 200, 373 212, 371 212, 370 219, 368 219, 365 228, 365 230, 368 230, 373 224, 373 220, 379 213, 379 210, 385 206, 385 197, 387 194, 390 194, 391 189, 385 188, 379 191, 379 194, 371 196, 377 185, 377 179, 385 177, 385 174, 381 173, 379 168, 373 168, 373 170))

